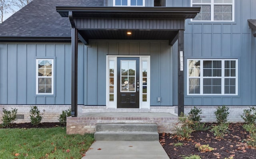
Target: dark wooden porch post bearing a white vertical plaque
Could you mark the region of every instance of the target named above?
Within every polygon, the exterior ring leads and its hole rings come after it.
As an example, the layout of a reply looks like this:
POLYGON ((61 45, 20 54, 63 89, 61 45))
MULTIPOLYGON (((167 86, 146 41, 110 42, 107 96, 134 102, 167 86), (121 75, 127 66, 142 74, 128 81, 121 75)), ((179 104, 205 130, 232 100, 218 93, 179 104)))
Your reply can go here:
POLYGON ((178 32, 178 115, 184 113, 184 30, 178 32))

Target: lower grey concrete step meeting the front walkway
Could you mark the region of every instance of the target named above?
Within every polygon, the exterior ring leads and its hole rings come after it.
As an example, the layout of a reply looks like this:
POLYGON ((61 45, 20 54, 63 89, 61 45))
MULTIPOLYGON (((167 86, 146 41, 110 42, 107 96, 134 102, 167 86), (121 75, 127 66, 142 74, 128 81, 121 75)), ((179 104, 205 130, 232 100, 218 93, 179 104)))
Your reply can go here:
POLYGON ((158 141, 157 132, 96 132, 96 141, 158 141))

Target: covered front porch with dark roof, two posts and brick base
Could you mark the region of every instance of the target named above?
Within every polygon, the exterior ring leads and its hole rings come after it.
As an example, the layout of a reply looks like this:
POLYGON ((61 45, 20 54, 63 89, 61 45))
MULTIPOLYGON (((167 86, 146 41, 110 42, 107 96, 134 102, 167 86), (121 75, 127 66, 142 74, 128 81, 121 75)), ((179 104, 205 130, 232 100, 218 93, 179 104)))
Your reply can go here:
MULTIPOLYGON (((178 52, 176 53, 178 59, 174 59, 178 61, 178 74, 174 75, 174 77, 178 79, 177 112, 180 114, 184 112, 183 59, 185 20, 194 18, 200 12, 200 8, 56 7, 56 10, 62 17, 69 18, 72 27, 72 117, 67 118, 67 133, 94 133, 96 123, 154 123, 158 125, 159 133, 173 132, 178 116, 169 112, 150 112, 151 105, 149 105, 148 108, 150 109, 147 109, 147 112, 143 112, 140 107, 134 111, 131 111, 132 108, 128 108, 124 112, 120 112, 122 109, 116 107, 113 112, 108 112, 106 111, 108 109, 104 109, 105 111, 103 112, 79 113, 80 115, 78 116, 78 40, 84 45, 90 45, 90 40, 98 39, 166 40, 170 46, 178 41, 178 52)), ((108 87, 109 83, 106 82, 106 87, 108 87)), ((142 88, 142 84, 140 88, 142 88)), ((107 93, 106 96, 108 96, 107 93)), ((108 100, 108 97, 106 99, 108 100)), ((150 100, 148 100, 149 104, 150 100)), ((107 108, 108 102, 106 101, 107 108)), ((171 104, 167 107, 170 108, 173 105, 171 104)))

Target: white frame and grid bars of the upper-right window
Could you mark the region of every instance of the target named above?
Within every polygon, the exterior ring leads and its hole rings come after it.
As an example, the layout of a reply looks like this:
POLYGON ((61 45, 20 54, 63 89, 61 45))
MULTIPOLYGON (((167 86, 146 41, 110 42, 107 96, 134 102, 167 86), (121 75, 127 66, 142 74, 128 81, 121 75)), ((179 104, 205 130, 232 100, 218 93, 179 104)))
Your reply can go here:
POLYGON ((196 18, 192 19, 192 22, 200 22, 200 21, 204 21, 204 22, 234 22, 234 0, 191 0, 191 6, 193 7, 200 7, 201 6, 201 11, 198 14, 198 16, 196 16, 196 18), (205 10, 203 10, 203 6, 209 6, 210 5, 210 20, 205 20, 204 18, 202 18, 202 13, 207 13, 205 10), (231 6, 232 10, 231 12, 215 12, 214 10, 214 6, 216 6, 216 8, 218 6, 231 6), (222 14, 222 20, 214 20, 214 14, 222 14), (231 20, 225 20, 223 19, 223 14, 231 14, 231 20), (201 16, 201 18, 200 18, 201 16), (197 18, 200 18, 199 20, 197 18))

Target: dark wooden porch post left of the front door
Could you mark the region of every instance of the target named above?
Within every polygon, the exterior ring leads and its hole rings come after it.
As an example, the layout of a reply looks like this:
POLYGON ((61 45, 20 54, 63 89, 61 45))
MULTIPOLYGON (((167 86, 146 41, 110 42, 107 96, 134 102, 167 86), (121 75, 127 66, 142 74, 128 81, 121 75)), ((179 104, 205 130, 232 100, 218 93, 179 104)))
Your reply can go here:
POLYGON ((77 116, 77 61, 78 61, 78 30, 72 27, 71 32, 72 49, 72 77, 71 77, 71 116, 77 116))

